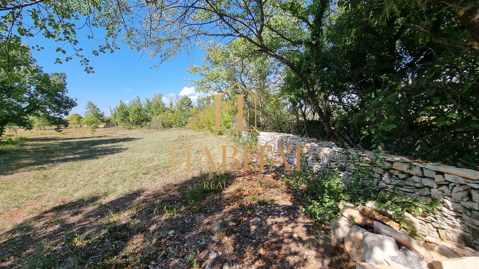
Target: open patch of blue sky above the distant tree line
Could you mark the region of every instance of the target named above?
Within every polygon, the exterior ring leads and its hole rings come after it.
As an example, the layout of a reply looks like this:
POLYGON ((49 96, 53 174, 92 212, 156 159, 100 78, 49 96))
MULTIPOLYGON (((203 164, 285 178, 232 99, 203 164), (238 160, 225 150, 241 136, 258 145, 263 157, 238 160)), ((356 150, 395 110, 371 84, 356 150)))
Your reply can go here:
MULTIPOLYGON (((83 55, 90 60, 95 73, 87 74, 77 57, 63 64, 54 64, 56 58, 64 59, 66 55, 55 52, 61 44, 53 40, 41 35, 23 39, 23 42, 30 46, 38 44, 45 48, 41 51, 32 50, 33 57, 37 59, 37 64, 43 67, 45 73, 66 73, 68 96, 78 98, 78 106, 71 113, 79 113, 83 116, 88 101, 92 101, 105 112, 105 116, 109 116, 109 105, 114 108, 119 100, 130 101, 137 95, 142 101, 147 97, 153 97, 155 93, 161 93, 164 97, 170 93, 196 95, 190 82, 184 79, 201 79, 200 76, 187 72, 191 64, 202 64, 201 57, 204 52, 199 48, 195 50, 192 59, 182 55, 163 63, 158 68, 151 69, 150 67, 157 64, 158 60, 153 59, 149 62, 149 56, 140 58, 141 53, 128 48, 126 44, 120 45, 121 49, 114 53, 107 52, 95 56, 91 54, 91 51, 97 49, 101 42, 83 38, 80 34, 77 39, 78 47, 83 48, 83 55)), ((72 50, 67 52, 72 53, 72 50)), ((168 105, 168 102, 165 104, 168 105)))

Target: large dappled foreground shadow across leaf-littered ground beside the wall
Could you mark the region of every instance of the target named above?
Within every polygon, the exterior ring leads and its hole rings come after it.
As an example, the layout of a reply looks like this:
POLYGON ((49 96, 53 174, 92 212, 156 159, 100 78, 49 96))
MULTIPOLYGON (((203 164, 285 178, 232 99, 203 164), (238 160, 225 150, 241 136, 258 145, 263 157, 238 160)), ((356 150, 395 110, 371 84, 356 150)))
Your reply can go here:
POLYGON ((245 206, 247 194, 200 191, 215 179, 230 184, 235 174, 203 173, 160 192, 41 211, 0 234, 0 268, 309 268, 305 252, 331 259, 317 251, 327 245, 317 227, 307 224, 298 238, 288 233, 305 227, 298 205, 245 206), (211 251, 223 255, 210 259, 211 251))

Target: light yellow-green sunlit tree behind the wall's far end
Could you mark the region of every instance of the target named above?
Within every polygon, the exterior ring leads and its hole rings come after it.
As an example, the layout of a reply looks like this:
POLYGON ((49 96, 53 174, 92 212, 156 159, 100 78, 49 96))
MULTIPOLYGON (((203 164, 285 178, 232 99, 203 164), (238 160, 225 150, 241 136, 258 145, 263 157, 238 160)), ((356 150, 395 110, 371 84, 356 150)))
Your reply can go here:
MULTIPOLYGON (((248 51, 249 46, 243 40, 234 40, 227 45, 210 44, 202 47, 206 51, 203 57, 204 64, 192 66, 188 71, 203 77, 202 80, 192 80, 197 91, 209 95, 223 92, 236 82, 240 82, 248 92, 231 89, 225 96, 225 101, 234 105, 237 102, 236 94, 245 94, 244 119, 250 126, 254 126, 257 118, 258 130, 267 132, 293 132, 289 113, 285 111, 284 97, 279 95, 277 80, 277 63, 266 55, 254 54, 248 51), (256 104, 255 104, 256 101, 256 104), (256 113, 255 113, 256 112, 256 113)), ((212 96, 211 96, 212 97, 212 96)), ((211 98, 210 97, 210 98, 211 98)), ((200 105, 203 105, 199 101, 200 105)))

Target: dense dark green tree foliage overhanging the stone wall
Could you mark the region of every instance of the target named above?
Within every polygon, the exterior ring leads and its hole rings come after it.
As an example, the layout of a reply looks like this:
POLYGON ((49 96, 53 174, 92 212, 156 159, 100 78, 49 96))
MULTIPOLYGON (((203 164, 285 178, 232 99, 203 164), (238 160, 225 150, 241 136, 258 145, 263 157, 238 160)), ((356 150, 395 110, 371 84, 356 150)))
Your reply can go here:
MULTIPOLYGON (((440 5, 381 2, 340 2, 316 51, 296 63, 311 70, 352 144, 477 169, 479 65, 463 46, 468 29, 440 5)), ((295 73, 285 81, 298 93, 295 73)))

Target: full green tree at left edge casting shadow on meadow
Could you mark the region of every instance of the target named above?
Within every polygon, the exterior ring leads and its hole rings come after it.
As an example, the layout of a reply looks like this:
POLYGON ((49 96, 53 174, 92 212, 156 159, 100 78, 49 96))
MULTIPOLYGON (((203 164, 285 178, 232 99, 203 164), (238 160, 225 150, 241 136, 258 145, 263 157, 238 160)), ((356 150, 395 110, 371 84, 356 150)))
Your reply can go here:
POLYGON ((65 73, 43 73, 26 46, 20 51, 2 51, 0 61, 10 56, 18 65, 0 65, 0 136, 9 125, 31 129, 35 117, 55 125, 57 131, 67 126, 63 116, 76 106, 76 99, 66 95, 65 73))

